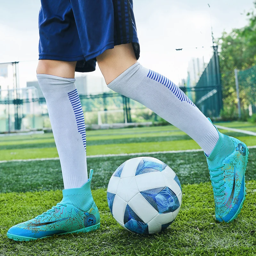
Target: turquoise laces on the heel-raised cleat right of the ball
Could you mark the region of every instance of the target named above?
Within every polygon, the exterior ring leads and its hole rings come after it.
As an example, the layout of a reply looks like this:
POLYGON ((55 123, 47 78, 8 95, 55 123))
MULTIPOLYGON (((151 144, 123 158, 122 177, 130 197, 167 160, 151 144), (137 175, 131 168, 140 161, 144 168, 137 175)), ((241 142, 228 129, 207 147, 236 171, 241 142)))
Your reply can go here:
POLYGON ((222 191, 225 189, 220 188, 222 185, 225 184, 225 181, 223 180, 223 177, 217 177, 220 174, 224 173, 224 170, 220 170, 220 168, 222 168, 225 164, 222 164, 220 166, 217 166, 215 168, 209 168, 210 171, 210 180, 212 181, 212 187, 213 187, 213 194, 215 196, 224 196, 225 193, 223 193, 222 191), (221 181, 222 180, 222 181, 221 181))

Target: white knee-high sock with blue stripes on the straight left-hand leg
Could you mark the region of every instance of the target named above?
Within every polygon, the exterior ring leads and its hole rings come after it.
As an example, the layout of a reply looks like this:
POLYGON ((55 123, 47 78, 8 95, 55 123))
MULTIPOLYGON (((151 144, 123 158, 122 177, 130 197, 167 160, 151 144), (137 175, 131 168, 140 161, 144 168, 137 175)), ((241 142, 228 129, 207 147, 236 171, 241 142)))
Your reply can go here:
POLYGON ((75 78, 37 75, 46 100, 60 157, 64 188, 80 188, 88 180, 84 113, 75 78))

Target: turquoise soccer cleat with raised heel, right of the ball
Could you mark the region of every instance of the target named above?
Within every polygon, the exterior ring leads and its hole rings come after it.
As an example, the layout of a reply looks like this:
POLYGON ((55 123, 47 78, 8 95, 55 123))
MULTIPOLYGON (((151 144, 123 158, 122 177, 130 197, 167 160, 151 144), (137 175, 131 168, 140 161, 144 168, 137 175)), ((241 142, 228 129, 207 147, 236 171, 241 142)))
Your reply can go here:
POLYGON ((242 141, 219 132, 215 148, 209 157, 206 156, 218 222, 236 219, 243 207, 248 155, 249 150, 242 141))

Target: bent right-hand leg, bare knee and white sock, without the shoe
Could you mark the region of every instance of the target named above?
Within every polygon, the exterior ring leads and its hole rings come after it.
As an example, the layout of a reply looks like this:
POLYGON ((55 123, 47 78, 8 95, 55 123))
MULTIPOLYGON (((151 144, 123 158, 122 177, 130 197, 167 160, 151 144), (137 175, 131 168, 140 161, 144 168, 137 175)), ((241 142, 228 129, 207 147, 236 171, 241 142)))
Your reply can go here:
POLYGON ((150 108, 186 132, 210 155, 219 139, 215 127, 169 79, 153 71, 149 74, 149 69, 137 63, 131 44, 117 45, 100 55, 97 61, 110 89, 150 108), (134 65, 131 67, 131 64, 134 65), (120 74, 125 74, 123 79, 120 74))

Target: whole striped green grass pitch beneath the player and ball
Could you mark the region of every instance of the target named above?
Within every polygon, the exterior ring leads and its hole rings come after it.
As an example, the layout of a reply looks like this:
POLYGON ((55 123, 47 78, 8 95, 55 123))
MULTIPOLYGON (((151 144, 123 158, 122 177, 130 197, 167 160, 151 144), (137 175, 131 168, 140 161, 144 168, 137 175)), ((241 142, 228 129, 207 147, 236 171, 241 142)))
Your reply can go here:
MULTIPOLYGON (((219 125, 256 131, 250 123, 219 125)), ((248 146, 256 136, 221 131, 248 146)), ((93 155, 198 149, 173 126, 141 127, 87 132, 87 153, 93 155)), ((256 254, 256 148, 250 149, 246 170, 247 196, 238 218, 217 223, 203 152, 157 153, 177 173, 183 201, 176 220, 164 232, 135 235, 121 228, 110 214, 106 199, 108 180, 124 161, 136 156, 88 158, 94 169, 92 193, 100 210, 101 227, 93 233, 64 235, 39 241, 15 242, 8 228, 50 209, 62 199, 59 160, 0 163, 0 256, 2 255, 255 255, 256 254)), ((51 133, 0 137, 0 161, 58 157, 51 133)))

